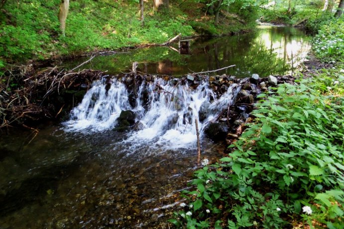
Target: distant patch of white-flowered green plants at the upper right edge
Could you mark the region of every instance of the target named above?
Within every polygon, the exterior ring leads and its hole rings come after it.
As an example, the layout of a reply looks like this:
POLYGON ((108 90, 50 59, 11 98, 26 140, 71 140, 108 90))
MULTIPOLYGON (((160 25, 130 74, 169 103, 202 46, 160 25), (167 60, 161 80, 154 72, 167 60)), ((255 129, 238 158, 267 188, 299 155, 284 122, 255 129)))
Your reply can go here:
POLYGON ((344 19, 333 18, 320 27, 314 37, 313 49, 322 59, 335 61, 344 56, 344 19))

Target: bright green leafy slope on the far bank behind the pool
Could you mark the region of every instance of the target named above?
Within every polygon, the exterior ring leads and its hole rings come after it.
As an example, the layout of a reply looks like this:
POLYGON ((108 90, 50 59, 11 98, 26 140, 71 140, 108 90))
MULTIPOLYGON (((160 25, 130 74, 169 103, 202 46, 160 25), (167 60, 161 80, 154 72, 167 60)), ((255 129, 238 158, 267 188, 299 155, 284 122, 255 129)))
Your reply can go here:
POLYGON ((61 26, 60 2, 22 0, 1 5, 0 68, 29 59, 164 43, 179 33, 187 37, 248 31, 256 25, 258 10, 258 2, 252 0, 160 1, 161 6, 144 1, 142 18, 136 0, 74 0, 61 26))

